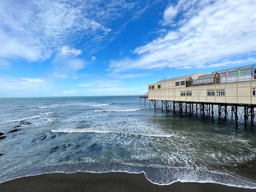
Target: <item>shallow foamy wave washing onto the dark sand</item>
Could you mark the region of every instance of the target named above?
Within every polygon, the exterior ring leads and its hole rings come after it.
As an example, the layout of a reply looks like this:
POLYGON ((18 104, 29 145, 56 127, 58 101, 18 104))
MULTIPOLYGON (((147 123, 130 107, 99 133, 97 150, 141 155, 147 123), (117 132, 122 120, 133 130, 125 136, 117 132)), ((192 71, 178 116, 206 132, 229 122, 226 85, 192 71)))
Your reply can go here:
POLYGON ((226 185, 236 188, 256 189, 256 183, 237 177, 232 174, 225 174, 224 172, 211 172, 207 169, 192 169, 188 167, 165 167, 164 169, 152 168, 148 166, 127 165, 124 163, 83 163, 70 162, 61 163, 57 165, 43 166, 41 169, 29 170, 23 172, 22 175, 15 175, 11 177, 3 177, 0 183, 8 180, 14 180, 20 177, 29 177, 39 174, 64 173, 73 174, 76 172, 87 173, 109 173, 109 172, 125 172, 129 174, 144 174, 146 180, 154 185, 171 185, 176 182, 181 183, 216 183, 219 185, 226 185), (164 178, 163 178, 164 176, 164 178))

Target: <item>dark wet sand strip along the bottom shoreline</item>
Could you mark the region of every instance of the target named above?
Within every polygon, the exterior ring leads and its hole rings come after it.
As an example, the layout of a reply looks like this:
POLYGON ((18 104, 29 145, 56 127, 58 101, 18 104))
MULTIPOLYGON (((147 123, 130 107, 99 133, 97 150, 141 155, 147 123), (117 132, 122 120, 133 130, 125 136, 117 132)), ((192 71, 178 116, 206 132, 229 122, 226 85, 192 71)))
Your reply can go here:
POLYGON ((41 174, 22 177, 0 184, 0 191, 232 191, 249 192, 255 189, 234 188, 214 183, 173 183, 154 185, 144 174, 128 173, 75 173, 41 174))

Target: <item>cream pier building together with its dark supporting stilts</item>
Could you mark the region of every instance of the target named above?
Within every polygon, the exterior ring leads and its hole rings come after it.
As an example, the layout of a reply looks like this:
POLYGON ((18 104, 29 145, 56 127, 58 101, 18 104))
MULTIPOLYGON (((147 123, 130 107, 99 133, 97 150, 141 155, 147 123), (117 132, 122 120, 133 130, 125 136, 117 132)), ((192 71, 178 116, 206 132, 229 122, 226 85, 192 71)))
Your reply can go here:
MULTIPOLYGON (((145 98, 144 98, 145 99, 145 98)), ((210 74, 188 74, 181 77, 160 80, 148 85, 148 101, 154 109, 178 109, 181 117, 188 110, 190 114, 197 111, 205 118, 206 114, 214 119, 235 118, 243 110, 244 126, 255 118, 256 106, 256 69, 255 65, 212 72, 210 74)))

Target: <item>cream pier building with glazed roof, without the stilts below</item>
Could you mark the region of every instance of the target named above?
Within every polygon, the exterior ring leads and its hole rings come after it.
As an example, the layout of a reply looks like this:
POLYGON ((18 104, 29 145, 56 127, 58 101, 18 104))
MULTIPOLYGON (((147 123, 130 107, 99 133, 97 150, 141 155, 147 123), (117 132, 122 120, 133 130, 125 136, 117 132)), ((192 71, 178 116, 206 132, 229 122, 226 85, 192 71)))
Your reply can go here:
POLYGON ((148 99, 253 105, 256 104, 255 65, 160 80, 148 85, 148 99))

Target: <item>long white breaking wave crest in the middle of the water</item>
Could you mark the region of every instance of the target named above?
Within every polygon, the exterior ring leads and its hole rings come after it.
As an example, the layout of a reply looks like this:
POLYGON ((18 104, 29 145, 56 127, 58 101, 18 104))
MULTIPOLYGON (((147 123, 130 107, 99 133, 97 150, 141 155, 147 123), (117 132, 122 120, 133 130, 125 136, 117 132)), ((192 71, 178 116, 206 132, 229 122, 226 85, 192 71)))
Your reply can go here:
POLYGON ((128 136, 135 136, 135 137, 164 137, 169 138, 172 137, 173 134, 138 134, 138 133, 126 133, 126 132, 118 132, 118 131, 103 131, 103 130, 89 130, 83 128, 62 128, 57 130, 50 130, 53 133, 65 133, 65 134, 74 134, 74 133, 88 133, 88 134, 121 134, 121 135, 128 135, 128 136))

